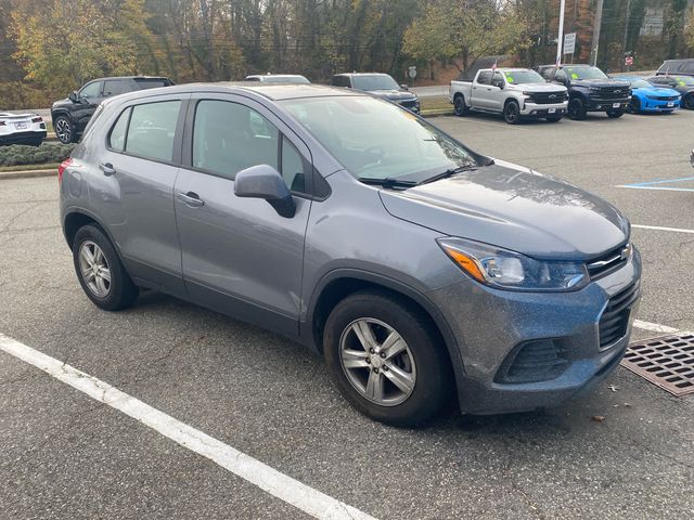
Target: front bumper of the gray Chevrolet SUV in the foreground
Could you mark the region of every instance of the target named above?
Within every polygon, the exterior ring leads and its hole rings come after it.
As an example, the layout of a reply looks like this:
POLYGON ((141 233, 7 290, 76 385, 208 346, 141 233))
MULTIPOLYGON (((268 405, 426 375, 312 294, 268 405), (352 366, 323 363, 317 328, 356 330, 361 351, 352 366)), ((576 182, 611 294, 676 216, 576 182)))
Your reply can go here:
MULTIPOLYGON (((625 334, 603 346, 601 316, 611 298, 634 287, 640 277, 641 259, 634 249, 621 269, 575 292, 514 292, 471 280, 429 292, 458 340, 464 372, 457 380, 461 412, 556 406, 604 379, 624 356, 639 299, 628 308, 625 334), (518 350, 541 342, 556 347, 558 372, 510 380, 509 365, 519 358, 518 350)), ((524 361, 528 359, 539 358, 524 361)))

